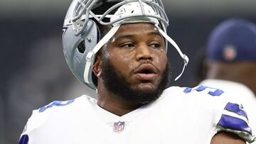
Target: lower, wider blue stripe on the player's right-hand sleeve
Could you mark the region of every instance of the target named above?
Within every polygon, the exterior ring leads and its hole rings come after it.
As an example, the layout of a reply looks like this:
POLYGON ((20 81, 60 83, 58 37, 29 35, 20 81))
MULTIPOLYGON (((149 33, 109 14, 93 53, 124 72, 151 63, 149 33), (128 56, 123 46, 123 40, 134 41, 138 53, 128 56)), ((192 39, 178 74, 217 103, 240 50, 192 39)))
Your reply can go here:
POLYGON ((248 126, 247 123, 242 119, 235 118, 233 116, 223 114, 217 126, 221 126, 223 128, 228 128, 235 131, 243 131, 252 135, 252 129, 250 128, 250 126, 248 126))

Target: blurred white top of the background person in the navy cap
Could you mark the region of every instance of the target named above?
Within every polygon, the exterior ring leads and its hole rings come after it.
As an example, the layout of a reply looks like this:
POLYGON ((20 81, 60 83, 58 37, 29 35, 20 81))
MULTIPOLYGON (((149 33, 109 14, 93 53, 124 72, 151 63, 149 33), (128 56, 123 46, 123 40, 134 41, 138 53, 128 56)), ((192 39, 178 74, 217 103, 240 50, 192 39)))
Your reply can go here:
MULTIPOLYGON (((228 101, 239 101, 249 116, 249 123, 253 130, 252 134, 256 134, 256 96, 248 87, 238 82, 220 79, 206 79, 201 84, 209 87, 221 87, 229 93, 228 101)), ((256 142, 253 144, 256 144, 256 142)))

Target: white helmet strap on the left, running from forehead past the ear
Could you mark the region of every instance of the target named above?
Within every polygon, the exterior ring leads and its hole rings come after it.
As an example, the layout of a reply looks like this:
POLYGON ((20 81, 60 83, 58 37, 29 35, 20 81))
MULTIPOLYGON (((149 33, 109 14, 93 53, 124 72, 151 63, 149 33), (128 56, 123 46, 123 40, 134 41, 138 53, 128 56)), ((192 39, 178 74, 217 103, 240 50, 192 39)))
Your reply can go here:
POLYGON ((87 82, 88 84, 91 83, 90 82, 91 80, 89 80, 91 79, 89 73, 90 73, 90 68, 93 65, 95 54, 100 50, 100 48, 102 48, 103 45, 105 45, 105 43, 107 43, 108 40, 110 40, 110 38, 112 38, 112 36, 114 35, 114 33, 117 32, 119 27, 120 27, 120 24, 114 25, 113 28, 111 28, 111 30, 99 41, 99 43, 97 43, 95 48, 93 48, 90 52, 87 53, 84 79, 85 79, 85 82, 87 82))

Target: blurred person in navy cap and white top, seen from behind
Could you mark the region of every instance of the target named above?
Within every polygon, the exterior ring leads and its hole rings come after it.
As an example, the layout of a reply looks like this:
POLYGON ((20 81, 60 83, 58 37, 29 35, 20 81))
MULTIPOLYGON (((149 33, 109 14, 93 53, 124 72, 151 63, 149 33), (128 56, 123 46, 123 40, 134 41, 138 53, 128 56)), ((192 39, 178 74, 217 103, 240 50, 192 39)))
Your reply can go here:
MULTIPOLYGON (((210 33, 206 80, 201 84, 222 87, 230 101, 241 101, 252 129, 256 128, 256 25, 242 18, 230 18, 210 33)), ((252 131, 255 133, 256 131, 252 131)))

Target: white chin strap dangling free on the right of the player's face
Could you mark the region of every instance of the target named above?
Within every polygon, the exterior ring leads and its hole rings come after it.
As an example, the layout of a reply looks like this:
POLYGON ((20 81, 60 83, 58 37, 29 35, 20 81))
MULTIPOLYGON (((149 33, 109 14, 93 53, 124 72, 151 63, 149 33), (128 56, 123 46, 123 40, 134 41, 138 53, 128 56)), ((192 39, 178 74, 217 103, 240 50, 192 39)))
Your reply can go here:
POLYGON ((183 62, 184 62, 183 69, 182 69, 181 74, 179 74, 178 77, 175 78, 175 81, 176 81, 181 77, 181 75, 183 74, 183 72, 185 70, 185 67, 188 65, 188 61, 189 61, 188 56, 186 56, 185 54, 183 54, 181 52, 181 49, 178 48, 178 45, 175 43, 175 41, 173 39, 171 39, 169 37, 169 35, 167 35, 163 30, 161 30, 161 28, 159 28, 159 26, 156 26, 156 28, 159 30, 159 33, 161 33, 161 35, 163 35, 164 38, 166 38, 166 40, 168 40, 169 43, 171 43, 171 45, 174 45, 174 48, 176 48, 176 50, 178 51, 178 54, 181 55, 181 57, 183 59, 183 62))

